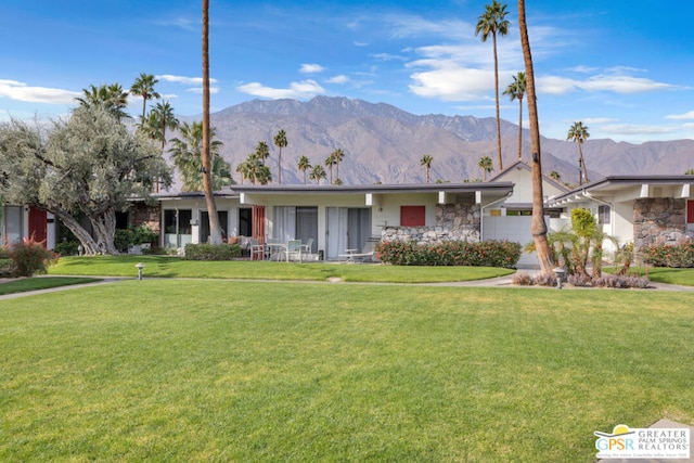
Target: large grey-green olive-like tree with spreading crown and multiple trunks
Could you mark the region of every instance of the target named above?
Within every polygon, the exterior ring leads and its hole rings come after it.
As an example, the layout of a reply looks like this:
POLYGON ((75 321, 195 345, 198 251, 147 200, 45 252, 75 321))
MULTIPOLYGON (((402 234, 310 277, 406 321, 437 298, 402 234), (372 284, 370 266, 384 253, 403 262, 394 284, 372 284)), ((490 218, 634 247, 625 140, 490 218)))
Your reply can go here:
POLYGON ((16 120, 1 124, 0 166, 5 200, 54 214, 88 255, 118 254, 116 213, 133 196, 150 198, 157 179, 171 183, 158 146, 101 105, 75 108, 48 132, 16 120), (91 233, 77 217, 89 221, 91 233))

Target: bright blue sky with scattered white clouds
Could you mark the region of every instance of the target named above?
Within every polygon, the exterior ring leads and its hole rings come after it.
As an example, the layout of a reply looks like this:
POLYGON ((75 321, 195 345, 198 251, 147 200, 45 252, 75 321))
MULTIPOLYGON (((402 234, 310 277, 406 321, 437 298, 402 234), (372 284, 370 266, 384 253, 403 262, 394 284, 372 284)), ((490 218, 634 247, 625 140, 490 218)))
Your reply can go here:
MULTIPOLYGON (((487 2, 210 0, 213 111, 330 95, 493 117, 491 39, 474 33, 487 2)), ((507 5, 502 90, 524 70, 507 5)), ((694 138, 694 2, 528 0, 526 14, 543 136, 581 120, 592 139, 694 138)), ((0 43, 0 119, 55 118, 90 85, 128 89, 140 73, 177 114, 202 111, 200 1, 5 0, 0 43)), ((501 104, 517 124, 517 102, 501 104)))

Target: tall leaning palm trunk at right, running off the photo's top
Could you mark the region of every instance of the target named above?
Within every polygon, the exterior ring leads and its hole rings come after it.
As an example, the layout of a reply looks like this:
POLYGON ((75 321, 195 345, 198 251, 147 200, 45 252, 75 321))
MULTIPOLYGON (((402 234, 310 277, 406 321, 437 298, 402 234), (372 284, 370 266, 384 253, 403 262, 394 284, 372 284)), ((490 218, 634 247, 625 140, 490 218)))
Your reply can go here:
POLYGON ((544 221, 544 195, 542 192, 542 153, 540 150, 540 124, 538 120, 538 102, 535 94, 535 70, 532 68, 532 53, 528 39, 528 26, 525 21, 525 0, 518 0, 518 28, 520 29, 520 44, 525 61, 526 101, 528 103, 528 118, 530 119, 530 150, 532 167, 532 218, 530 232, 535 243, 535 252, 540 263, 540 272, 551 275, 554 265, 550 258, 550 244, 547 239, 547 223, 544 221))

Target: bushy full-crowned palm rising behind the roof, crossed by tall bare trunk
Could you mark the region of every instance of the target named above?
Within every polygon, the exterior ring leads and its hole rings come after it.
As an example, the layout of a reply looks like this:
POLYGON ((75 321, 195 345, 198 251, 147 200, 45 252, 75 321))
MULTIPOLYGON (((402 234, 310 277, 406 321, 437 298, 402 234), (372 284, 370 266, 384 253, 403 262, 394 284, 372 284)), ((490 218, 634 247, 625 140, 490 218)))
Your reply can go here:
MULTIPOLYGON (((203 124, 183 123, 180 128, 181 138, 171 140, 171 158, 178 168, 183 191, 202 191, 203 185, 203 124)), ((232 184, 231 166, 219 154, 222 142, 214 140, 216 130, 210 130, 210 180, 214 190, 232 184)))

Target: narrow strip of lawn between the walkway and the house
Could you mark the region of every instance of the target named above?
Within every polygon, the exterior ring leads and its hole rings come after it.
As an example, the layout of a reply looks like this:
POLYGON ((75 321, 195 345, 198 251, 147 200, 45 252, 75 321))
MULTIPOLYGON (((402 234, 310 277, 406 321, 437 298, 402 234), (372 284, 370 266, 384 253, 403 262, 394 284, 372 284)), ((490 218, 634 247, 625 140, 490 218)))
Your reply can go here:
POLYGON ((168 256, 62 257, 50 267, 52 275, 137 276, 136 265, 144 263, 144 276, 214 278, 246 280, 340 279, 349 282, 432 283, 481 280, 513 273, 492 267, 399 267, 323 262, 194 261, 168 256))

